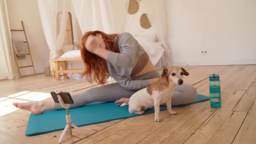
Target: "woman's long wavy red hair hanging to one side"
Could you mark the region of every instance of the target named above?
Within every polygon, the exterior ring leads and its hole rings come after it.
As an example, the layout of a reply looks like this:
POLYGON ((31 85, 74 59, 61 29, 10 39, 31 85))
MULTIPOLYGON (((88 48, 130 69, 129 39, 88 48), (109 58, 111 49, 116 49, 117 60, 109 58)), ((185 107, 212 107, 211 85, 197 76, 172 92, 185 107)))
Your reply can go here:
POLYGON ((107 69, 107 61, 102 59, 101 57, 89 52, 85 48, 85 41, 87 40, 89 35, 102 35, 102 38, 105 42, 106 49, 109 51, 117 52, 115 50, 115 41, 114 38, 118 34, 106 34, 101 31, 90 31, 86 32, 82 37, 81 42, 81 57, 85 66, 84 72, 82 72, 81 76, 85 76, 86 80, 92 82, 92 78, 96 80, 97 83, 103 84, 106 82, 109 77, 108 69, 107 69))

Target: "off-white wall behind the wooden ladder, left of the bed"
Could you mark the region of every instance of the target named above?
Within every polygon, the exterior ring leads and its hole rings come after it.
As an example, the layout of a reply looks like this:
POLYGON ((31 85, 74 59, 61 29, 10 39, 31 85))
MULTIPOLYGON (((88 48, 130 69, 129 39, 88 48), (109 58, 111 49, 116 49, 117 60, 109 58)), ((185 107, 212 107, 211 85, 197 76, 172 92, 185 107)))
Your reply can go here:
MULTIPOLYGON (((82 34, 71 5, 71 0, 69 2, 69 12, 72 14, 74 41, 76 43, 80 41, 82 34)), ((49 64, 50 50, 43 33, 37 0, 7 0, 7 7, 11 29, 22 29, 21 20, 24 23, 36 73, 44 72, 44 67, 47 67, 49 64)), ((61 11, 61 5, 58 6, 58 10, 61 11)), ((25 40, 22 32, 11 32, 11 34, 13 40, 25 40)), ((29 56, 26 59, 19 60, 19 65, 31 65, 29 56)), ((21 75, 33 73, 32 67, 21 69, 21 75)))

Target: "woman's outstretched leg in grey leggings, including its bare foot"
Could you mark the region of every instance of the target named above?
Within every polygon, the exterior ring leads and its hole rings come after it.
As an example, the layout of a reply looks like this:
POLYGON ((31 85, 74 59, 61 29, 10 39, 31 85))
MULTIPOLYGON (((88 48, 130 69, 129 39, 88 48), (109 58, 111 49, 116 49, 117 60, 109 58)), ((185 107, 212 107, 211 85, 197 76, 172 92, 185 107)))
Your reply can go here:
MULTIPOLYGON (((124 89, 118 83, 103 85, 72 95, 74 104, 70 104, 70 107, 80 107, 95 101, 116 101, 122 97, 125 99, 131 97, 135 92, 136 91, 128 91, 124 89)), ((13 103, 13 105, 20 109, 29 110, 35 115, 39 115, 46 110, 63 109, 61 105, 59 103, 55 103, 53 99, 29 101, 26 103, 13 103)))

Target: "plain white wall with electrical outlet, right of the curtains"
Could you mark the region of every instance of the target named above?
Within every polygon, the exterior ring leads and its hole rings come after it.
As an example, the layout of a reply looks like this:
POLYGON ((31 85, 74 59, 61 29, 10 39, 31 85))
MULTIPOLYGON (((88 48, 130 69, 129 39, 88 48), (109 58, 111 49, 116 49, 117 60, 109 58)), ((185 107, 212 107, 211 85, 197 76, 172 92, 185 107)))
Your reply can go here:
POLYGON ((256 64, 256 0, 168 2, 173 65, 256 64))

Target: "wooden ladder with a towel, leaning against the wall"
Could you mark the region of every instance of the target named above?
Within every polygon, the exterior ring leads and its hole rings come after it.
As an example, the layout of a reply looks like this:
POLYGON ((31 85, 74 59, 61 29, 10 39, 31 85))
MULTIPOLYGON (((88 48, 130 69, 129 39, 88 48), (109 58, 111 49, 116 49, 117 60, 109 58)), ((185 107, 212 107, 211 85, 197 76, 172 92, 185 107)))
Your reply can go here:
POLYGON ((19 64, 18 64, 18 61, 17 61, 17 54, 13 48, 13 54, 14 54, 14 59, 16 61, 16 64, 17 64, 17 67, 18 67, 18 71, 19 71, 19 77, 21 78, 21 72, 20 72, 20 69, 21 68, 25 68, 25 67, 33 67, 34 69, 34 75, 36 76, 36 73, 35 73, 35 67, 34 67, 34 63, 33 63, 33 60, 32 60, 32 56, 31 56, 31 52, 30 52, 30 48, 29 48, 29 42, 27 40, 27 35, 26 35, 26 32, 25 32, 25 29, 24 29, 24 25, 23 25, 23 21, 21 21, 21 25, 22 25, 22 29, 11 29, 11 32, 24 32, 24 35, 25 35, 25 38, 26 38, 26 41, 24 41, 24 43, 27 43, 27 48, 29 50, 29 53, 27 53, 26 55, 29 55, 30 56, 30 60, 31 60, 31 63, 32 65, 29 65, 29 66, 23 66, 23 67, 19 67, 19 64))

